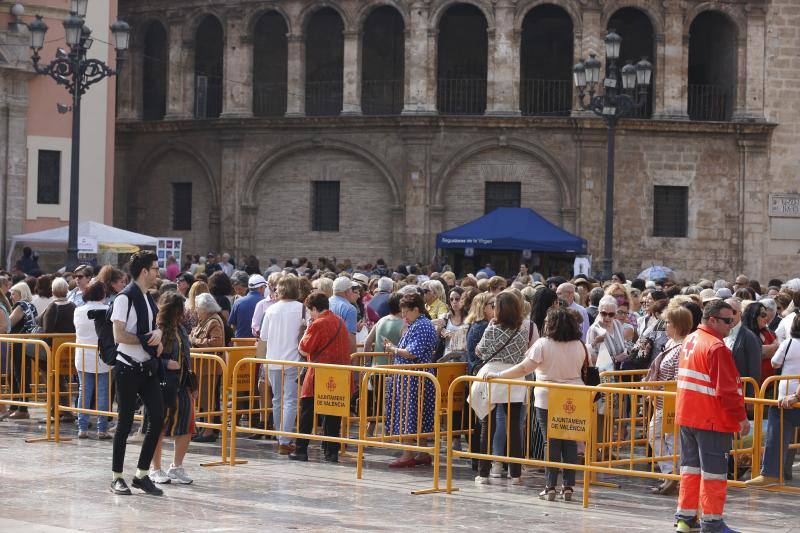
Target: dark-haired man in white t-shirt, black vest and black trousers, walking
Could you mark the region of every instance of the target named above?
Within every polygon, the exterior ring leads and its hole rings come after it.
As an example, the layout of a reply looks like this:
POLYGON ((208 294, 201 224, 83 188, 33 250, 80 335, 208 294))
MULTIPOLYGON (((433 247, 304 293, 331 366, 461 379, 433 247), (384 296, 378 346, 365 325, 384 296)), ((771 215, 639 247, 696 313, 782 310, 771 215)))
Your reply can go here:
POLYGON ((156 327, 155 302, 147 292, 158 278, 158 258, 150 250, 136 252, 131 256, 128 266, 134 282, 117 295, 111 311, 114 341, 117 343, 117 361, 113 375, 119 411, 114 435, 111 492, 126 495, 131 493, 122 477, 122 467, 138 397, 142 399, 149 424, 132 485, 147 494, 160 496, 163 494, 162 490, 147 475, 164 423, 164 400, 161 395, 159 366, 155 360, 162 351, 161 330, 156 327))

